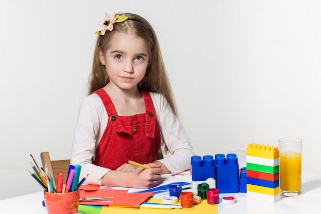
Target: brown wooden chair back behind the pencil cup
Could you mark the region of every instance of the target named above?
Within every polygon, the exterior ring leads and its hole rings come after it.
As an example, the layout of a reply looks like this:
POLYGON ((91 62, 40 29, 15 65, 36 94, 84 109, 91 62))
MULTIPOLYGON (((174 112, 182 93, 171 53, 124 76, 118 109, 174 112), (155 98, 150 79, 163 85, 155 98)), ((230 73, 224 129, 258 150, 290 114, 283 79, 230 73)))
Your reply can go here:
MULTIPOLYGON (((64 184, 66 184, 67 174, 70 166, 70 159, 68 160, 58 160, 58 161, 52 161, 50 159, 49 152, 42 152, 40 154, 41 162, 43 164, 43 168, 45 170, 45 165, 47 164, 49 174, 52 175, 52 181, 53 185, 56 185, 57 183, 57 176, 58 173, 64 174, 64 184)), ((48 174, 48 176, 49 176, 48 174)))

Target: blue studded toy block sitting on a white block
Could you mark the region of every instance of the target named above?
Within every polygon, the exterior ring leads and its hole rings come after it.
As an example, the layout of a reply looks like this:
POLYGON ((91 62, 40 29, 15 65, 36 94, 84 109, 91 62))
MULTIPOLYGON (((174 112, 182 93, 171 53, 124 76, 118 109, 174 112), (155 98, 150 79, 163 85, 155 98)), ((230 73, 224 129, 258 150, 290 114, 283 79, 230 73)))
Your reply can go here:
POLYGON ((215 161, 213 156, 205 155, 203 160, 200 156, 191 158, 192 181, 205 181, 209 178, 216 179, 215 161))

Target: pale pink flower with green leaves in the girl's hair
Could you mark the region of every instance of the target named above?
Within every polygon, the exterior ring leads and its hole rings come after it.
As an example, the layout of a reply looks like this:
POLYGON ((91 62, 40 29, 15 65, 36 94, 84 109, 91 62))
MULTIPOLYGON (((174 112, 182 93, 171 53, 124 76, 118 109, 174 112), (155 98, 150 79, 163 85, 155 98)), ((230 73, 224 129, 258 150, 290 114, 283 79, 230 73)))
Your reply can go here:
POLYGON ((112 13, 108 15, 105 13, 105 18, 101 22, 99 22, 98 30, 95 32, 98 35, 105 35, 106 30, 112 31, 114 28, 114 23, 124 22, 128 19, 128 16, 123 15, 115 15, 112 13))

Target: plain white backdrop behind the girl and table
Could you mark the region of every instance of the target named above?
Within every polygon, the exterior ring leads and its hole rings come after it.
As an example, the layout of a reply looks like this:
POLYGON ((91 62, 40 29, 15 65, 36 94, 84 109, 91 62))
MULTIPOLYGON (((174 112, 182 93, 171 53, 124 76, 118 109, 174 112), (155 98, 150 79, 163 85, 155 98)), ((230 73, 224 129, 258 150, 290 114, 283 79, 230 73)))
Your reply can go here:
POLYGON ((303 140, 317 162, 321 2, 0 0, 0 199, 41 191, 32 154, 69 159, 104 13, 154 27, 197 155, 303 140))

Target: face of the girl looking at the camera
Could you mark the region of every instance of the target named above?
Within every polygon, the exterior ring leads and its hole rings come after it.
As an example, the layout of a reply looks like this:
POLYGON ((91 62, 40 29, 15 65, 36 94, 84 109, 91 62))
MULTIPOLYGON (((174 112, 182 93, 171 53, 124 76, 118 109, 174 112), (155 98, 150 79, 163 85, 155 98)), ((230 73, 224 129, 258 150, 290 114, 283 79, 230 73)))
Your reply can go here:
POLYGON ((113 87, 122 90, 137 90, 149 62, 149 50, 145 41, 131 33, 115 33, 105 53, 99 59, 113 87))

